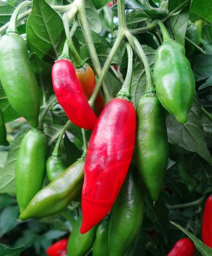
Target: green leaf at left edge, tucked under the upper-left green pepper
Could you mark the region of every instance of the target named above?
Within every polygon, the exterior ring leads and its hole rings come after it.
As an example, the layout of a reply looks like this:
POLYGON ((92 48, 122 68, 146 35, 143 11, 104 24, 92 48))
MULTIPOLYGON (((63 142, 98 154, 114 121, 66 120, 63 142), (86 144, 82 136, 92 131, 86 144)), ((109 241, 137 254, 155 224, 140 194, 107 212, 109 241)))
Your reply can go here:
POLYGON ((11 104, 7 100, 7 96, 5 94, 5 91, 3 90, 1 82, 0 82, 0 108, 3 112, 5 123, 20 117, 20 114, 15 112, 15 110, 13 110, 13 108, 11 107, 11 104))

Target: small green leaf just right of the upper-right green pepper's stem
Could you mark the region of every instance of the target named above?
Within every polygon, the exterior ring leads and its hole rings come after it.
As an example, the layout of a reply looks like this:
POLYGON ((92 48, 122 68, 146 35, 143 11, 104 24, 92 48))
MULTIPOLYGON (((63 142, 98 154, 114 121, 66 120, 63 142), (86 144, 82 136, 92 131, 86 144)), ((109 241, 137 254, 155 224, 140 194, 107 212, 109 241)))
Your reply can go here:
POLYGON ((172 27, 172 32, 174 33, 174 38, 178 43, 181 43, 182 45, 185 44, 185 33, 189 19, 188 11, 188 7, 185 7, 182 11, 180 11, 180 13, 172 15, 170 19, 170 25, 172 27))

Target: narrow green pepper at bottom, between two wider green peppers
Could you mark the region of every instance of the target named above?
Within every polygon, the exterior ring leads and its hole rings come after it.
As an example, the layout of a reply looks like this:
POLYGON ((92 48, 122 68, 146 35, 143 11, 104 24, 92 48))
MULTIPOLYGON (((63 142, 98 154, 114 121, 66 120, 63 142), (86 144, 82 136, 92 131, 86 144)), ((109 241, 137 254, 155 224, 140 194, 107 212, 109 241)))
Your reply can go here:
POLYGON ((97 227, 97 233, 95 235, 95 241, 93 243, 93 256, 109 256, 109 248, 107 245, 108 241, 108 230, 109 230, 109 220, 104 219, 101 221, 100 225, 97 227))

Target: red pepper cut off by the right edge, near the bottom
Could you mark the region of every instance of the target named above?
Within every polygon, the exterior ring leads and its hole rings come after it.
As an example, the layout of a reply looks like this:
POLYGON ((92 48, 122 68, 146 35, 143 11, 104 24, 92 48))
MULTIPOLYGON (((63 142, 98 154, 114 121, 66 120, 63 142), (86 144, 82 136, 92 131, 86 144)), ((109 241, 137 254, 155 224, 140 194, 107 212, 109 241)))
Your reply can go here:
POLYGON ((201 237, 205 245, 212 248, 212 195, 207 197, 203 212, 203 223, 201 226, 201 237))

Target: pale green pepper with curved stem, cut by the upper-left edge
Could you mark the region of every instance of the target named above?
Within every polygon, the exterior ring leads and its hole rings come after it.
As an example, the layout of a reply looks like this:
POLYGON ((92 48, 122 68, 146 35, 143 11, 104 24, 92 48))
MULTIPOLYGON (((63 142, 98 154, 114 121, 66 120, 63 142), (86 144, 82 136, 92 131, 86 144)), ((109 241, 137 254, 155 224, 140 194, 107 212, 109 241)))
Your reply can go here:
POLYGON ((38 84, 32 70, 26 43, 17 34, 16 29, 17 15, 28 3, 31 2, 25 1, 15 9, 7 33, 1 37, 0 78, 13 109, 36 128, 40 110, 38 84))

